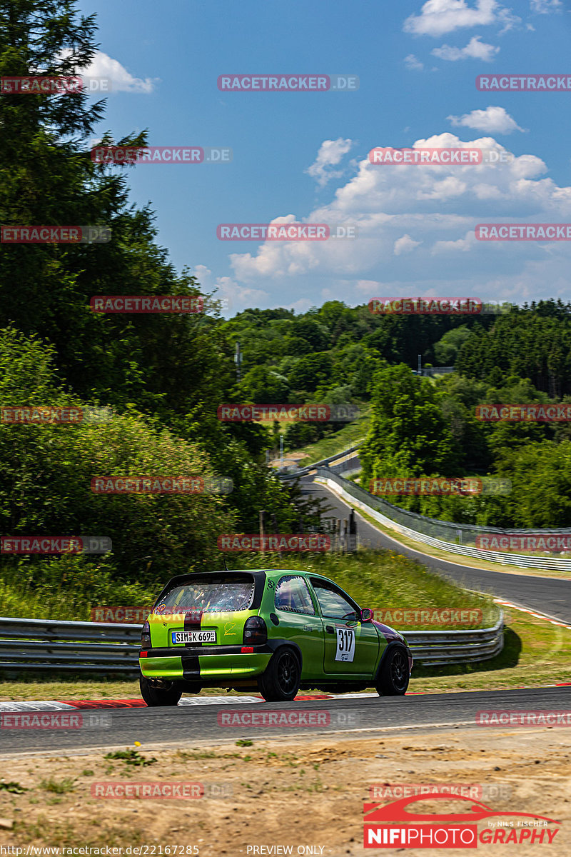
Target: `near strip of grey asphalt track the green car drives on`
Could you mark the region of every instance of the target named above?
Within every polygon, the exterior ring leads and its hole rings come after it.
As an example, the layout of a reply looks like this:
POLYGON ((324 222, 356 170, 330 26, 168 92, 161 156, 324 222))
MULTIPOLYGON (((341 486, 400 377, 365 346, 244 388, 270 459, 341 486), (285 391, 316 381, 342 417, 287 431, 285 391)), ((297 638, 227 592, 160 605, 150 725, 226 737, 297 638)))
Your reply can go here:
MULTIPOLYGON (((74 729, 2 729, 0 755, 17 752, 41 752, 43 755, 65 751, 88 751, 95 747, 133 746, 140 740, 146 750, 160 744, 195 746, 234 742, 238 738, 260 739, 304 735, 366 738, 378 730, 399 734, 408 728, 479 728, 476 712, 489 709, 562 710, 569 707, 571 686, 536 687, 517 690, 478 691, 466 693, 418 694, 407 697, 348 697, 299 701, 293 703, 205 704, 175 708, 106 709, 109 728, 74 729), (322 712, 330 725, 321 727, 291 726, 220 726, 219 713, 237 711, 259 714, 264 711, 322 712)), ((83 712, 97 714, 99 712, 83 712)), ((481 728, 481 727, 480 727, 481 728)), ((485 727, 489 729, 490 727, 485 727)), ((493 731, 493 729, 492 729, 493 731)))

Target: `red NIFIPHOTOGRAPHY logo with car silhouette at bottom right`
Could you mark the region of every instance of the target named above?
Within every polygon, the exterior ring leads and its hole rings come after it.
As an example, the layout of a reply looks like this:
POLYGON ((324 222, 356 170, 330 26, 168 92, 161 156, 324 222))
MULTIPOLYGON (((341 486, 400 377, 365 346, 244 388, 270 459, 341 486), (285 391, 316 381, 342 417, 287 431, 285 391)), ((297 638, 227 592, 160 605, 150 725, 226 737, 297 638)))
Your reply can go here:
POLYGON ((554 818, 531 812, 495 812, 479 800, 459 794, 413 795, 363 805, 365 848, 478 848, 533 842, 550 845, 559 832, 548 827, 561 824, 554 818), (459 812, 427 812, 425 801, 461 800, 459 812), (415 806, 408 808, 409 805, 415 806), (479 830, 480 823, 480 830, 479 830))

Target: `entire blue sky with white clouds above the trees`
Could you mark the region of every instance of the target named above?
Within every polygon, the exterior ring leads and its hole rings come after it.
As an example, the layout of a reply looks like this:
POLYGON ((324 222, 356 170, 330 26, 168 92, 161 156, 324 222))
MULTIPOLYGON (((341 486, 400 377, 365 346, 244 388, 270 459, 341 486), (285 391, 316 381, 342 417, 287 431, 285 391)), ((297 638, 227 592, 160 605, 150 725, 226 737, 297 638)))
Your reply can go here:
POLYGON ((571 92, 483 93, 481 74, 571 75, 566 0, 269 3, 81 0, 90 74, 113 92, 98 133, 221 146, 226 165, 128 168, 175 267, 229 313, 325 300, 571 297, 569 242, 481 243, 481 222, 571 223, 571 92), (358 75, 352 93, 223 93, 223 74, 358 75), (372 147, 495 147, 503 165, 371 165, 372 147), (460 142, 459 142, 460 141, 460 142), (221 242, 221 223, 357 225, 354 240, 221 242))

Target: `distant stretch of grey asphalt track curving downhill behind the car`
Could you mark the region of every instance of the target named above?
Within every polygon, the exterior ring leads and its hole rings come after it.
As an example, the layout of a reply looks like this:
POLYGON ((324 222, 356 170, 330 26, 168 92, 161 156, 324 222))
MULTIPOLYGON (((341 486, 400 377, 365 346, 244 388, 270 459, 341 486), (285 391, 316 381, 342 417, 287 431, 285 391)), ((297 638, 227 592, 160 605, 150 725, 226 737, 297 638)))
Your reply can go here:
MULTIPOLYGON (((324 500, 327 500, 328 505, 332 506, 333 511, 328 512, 328 516, 332 518, 348 517, 350 506, 336 497, 336 494, 332 494, 324 485, 312 482, 311 476, 306 476, 301 482, 304 493, 323 497, 324 500)), ((422 554, 420 551, 407 548, 400 542, 391 539, 390 536, 385 536, 384 533, 369 524, 365 518, 362 518, 357 511, 355 511, 355 517, 359 522, 359 537, 362 545, 371 548, 397 549, 399 554, 406 554, 413 560, 419 560, 423 565, 443 573, 467 589, 490 592, 497 598, 502 598, 503 601, 512 602, 518 607, 535 610, 571 625, 571 580, 490 572, 485 569, 439 560, 422 554)), ((363 606, 366 607, 366 604, 363 606)))

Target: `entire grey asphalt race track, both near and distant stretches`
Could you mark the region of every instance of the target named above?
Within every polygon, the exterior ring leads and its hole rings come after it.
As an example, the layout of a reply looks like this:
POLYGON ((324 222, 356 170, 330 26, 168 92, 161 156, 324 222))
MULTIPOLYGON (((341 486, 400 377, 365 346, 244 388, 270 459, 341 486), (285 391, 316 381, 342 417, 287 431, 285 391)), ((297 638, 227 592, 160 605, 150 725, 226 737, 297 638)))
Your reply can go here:
MULTIPOLYGON (((311 477, 302 480, 304 492, 324 497, 332 511, 332 517, 347 518, 349 506, 338 500, 327 488, 312 482, 311 477)), ((419 551, 401 546, 385 536, 364 518, 359 519, 360 542, 372 548, 398 549, 430 566, 437 572, 453 578, 470 589, 488 591, 506 601, 550 615, 571 625, 571 599, 568 580, 532 577, 504 572, 491 572, 470 566, 437 560, 419 551)), ((196 698, 198 701, 198 698, 196 698)), ((480 710, 565 710, 571 708, 571 686, 546 686, 518 688, 513 690, 478 691, 460 693, 412 694, 407 697, 379 698, 376 694, 327 699, 299 700, 293 703, 251 703, 232 698, 201 704, 181 704, 165 708, 105 708, 101 710, 74 711, 84 722, 98 723, 93 728, 2 728, 0 729, 0 757, 15 753, 89 752, 95 748, 124 748, 140 741, 142 749, 158 749, 161 745, 196 746, 206 744, 233 743, 237 738, 256 740, 303 735, 308 739, 335 734, 337 738, 366 738, 378 734, 399 734, 408 729, 479 728, 476 714, 480 710), (224 726, 223 715, 237 712, 240 725, 224 726), (318 725, 252 725, 244 722, 249 716, 270 712, 288 712, 316 716, 318 725)), ((32 708, 32 706, 31 706, 32 708)), ((28 709, 28 713, 30 712, 28 709)), ((60 712, 61 713, 61 712, 60 712)), ((481 728, 481 727, 480 727, 481 728)), ((493 731, 493 730, 492 730, 493 731)))

